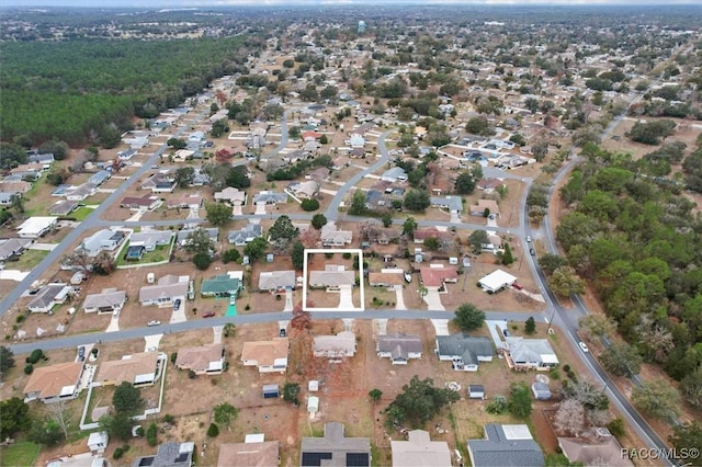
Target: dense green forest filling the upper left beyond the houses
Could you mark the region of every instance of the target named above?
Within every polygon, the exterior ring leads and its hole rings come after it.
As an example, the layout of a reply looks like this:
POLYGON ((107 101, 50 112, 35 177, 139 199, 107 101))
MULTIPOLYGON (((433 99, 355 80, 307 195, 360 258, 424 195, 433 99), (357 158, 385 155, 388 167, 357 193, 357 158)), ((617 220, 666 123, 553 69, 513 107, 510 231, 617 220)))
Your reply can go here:
POLYGON ((5 43, 0 68, 4 141, 97 143, 155 117, 214 78, 245 71, 257 36, 174 41, 5 43))

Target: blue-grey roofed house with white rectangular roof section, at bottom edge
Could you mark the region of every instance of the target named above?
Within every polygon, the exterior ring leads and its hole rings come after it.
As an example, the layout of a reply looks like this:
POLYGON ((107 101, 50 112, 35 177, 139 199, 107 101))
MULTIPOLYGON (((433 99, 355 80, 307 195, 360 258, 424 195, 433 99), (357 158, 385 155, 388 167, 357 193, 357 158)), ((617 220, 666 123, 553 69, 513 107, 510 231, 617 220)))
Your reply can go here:
POLYGON ((543 466, 544 453, 526 425, 485 425, 484 440, 468 440, 473 467, 543 466))

